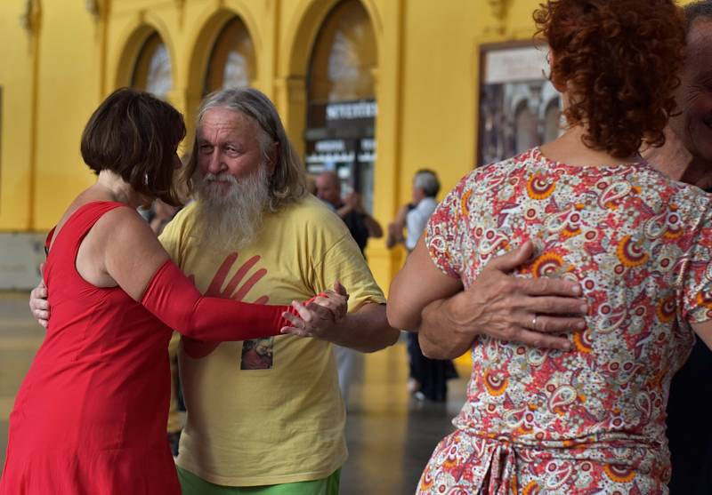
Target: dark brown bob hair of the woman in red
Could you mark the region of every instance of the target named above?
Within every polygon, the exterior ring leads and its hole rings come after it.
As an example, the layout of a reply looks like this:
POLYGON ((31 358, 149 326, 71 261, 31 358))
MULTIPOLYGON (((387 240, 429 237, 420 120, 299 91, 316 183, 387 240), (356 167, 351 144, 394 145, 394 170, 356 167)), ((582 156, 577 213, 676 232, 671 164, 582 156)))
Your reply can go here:
POLYGON ((147 92, 121 88, 86 124, 82 158, 97 175, 109 170, 136 192, 178 206, 174 160, 184 137, 185 123, 178 110, 147 92))

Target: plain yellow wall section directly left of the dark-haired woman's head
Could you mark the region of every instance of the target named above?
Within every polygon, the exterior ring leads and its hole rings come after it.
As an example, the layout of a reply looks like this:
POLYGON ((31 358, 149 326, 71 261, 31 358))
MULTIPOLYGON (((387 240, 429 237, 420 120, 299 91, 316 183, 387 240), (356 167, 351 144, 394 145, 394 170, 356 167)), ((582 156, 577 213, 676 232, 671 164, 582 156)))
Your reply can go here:
POLYGON ((77 192, 93 183, 79 155, 79 136, 101 98, 96 27, 84 4, 45 1, 42 8, 32 225, 37 229, 52 227, 77 192))

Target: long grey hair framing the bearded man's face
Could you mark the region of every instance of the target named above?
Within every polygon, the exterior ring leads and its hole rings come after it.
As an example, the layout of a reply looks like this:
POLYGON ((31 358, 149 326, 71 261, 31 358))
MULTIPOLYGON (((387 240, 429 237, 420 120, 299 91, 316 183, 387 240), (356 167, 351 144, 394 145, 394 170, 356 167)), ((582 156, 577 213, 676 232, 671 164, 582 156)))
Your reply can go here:
POLYGON ((193 176, 198 170, 198 132, 203 117, 211 108, 228 108, 240 112, 259 124, 263 131, 260 146, 265 159, 268 157, 267 150, 273 143, 277 143, 277 161, 269 180, 271 212, 278 212, 306 194, 306 172, 292 143, 287 138, 277 108, 274 108, 271 100, 263 92, 252 88, 231 88, 212 92, 200 103, 195 140, 190 159, 183 172, 183 178, 191 192, 194 186, 193 176))

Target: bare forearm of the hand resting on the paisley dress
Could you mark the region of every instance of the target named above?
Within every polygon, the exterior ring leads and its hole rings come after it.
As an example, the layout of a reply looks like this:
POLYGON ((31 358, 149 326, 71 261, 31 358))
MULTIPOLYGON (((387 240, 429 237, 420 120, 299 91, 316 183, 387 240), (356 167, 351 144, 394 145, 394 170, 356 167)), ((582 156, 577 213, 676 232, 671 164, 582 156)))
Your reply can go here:
POLYGON ((423 354, 431 359, 454 359, 472 347, 473 335, 457 331, 457 323, 449 317, 451 300, 434 300, 423 309, 418 341, 423 354))

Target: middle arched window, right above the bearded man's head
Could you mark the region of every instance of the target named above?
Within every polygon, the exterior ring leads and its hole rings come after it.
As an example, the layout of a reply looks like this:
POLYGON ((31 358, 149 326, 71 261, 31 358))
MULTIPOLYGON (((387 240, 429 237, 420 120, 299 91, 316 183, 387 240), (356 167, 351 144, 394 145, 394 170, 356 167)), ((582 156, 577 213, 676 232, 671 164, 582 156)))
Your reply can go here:
POLYGON ((215 38, 207 62, 203 94, 251 86, 257 76, 255 46, 245 23, 235 16, 215 38))

